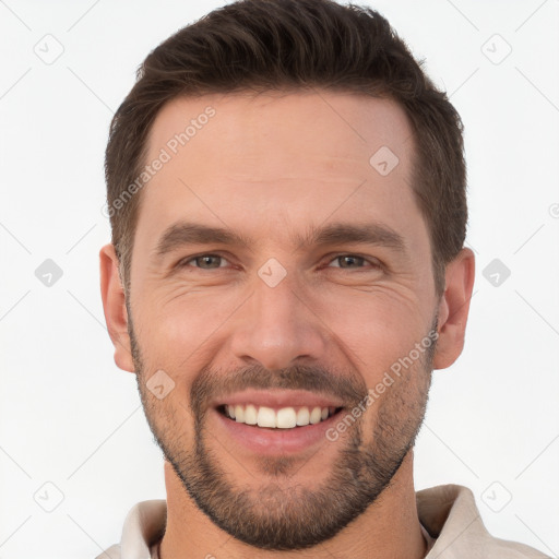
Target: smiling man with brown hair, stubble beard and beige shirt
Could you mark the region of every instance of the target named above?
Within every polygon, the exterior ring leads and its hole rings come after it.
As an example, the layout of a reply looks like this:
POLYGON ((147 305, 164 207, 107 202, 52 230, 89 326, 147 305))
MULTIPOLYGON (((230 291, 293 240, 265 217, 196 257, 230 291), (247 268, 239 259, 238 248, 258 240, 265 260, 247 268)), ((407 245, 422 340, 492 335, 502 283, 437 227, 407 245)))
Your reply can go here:
POLYGON ((467 488, 414 489, 475 265, 460 117, 380 14, 245 0, 179 31, 106 176, 105 317, 167 500, 99 557, 545 557, 467 488))

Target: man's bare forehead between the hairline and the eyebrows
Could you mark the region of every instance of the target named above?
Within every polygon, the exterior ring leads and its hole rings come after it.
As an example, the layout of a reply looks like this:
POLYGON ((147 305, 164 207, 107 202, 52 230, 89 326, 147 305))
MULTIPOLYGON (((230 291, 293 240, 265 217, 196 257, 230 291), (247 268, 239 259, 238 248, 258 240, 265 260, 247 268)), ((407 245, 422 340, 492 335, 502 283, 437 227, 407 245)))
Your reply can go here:
POLYGON ((152 126, 145 163, 165 163, 142 190, 138 229, 148 241, 188 217, 280 238, 334 216, 400 222, 413 235, 413 150, 407 117, 390 99, 324 91, 176 98, 152 126))

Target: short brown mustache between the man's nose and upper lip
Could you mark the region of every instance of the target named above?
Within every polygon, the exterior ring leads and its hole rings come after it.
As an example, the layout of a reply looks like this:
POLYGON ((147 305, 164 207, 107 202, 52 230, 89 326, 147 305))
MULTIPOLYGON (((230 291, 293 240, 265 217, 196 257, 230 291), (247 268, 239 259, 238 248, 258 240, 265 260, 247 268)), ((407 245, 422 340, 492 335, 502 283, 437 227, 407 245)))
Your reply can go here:
POLYGON ((248 389, 306 390, 336 396, 344 402, 344 407, 354 407, 368 393, 362 378, 352 371, 330 371, 308 365, 295 365, 276 371, 254 365, 226 373, 204 368, 190 389, 192 411, 200 417, 211 401, 248 389))

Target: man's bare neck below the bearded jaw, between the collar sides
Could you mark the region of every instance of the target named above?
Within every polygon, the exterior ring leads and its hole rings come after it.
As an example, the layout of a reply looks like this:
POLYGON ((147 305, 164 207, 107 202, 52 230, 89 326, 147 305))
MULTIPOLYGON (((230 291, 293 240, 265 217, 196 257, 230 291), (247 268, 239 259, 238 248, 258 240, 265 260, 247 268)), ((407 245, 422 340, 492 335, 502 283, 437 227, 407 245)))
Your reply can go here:
MULTIPOLYGON (((167 526, 160 559, 277 559, 277 551, 249 546, 216 526, 193 502, 170 464, 165 461, 167 526)), ((311 549, 284 551, 285 559, 421 559, 421 534, 413 483, 413 450, 404 459, 389 487, 360 516, 336 536, 311 549)))

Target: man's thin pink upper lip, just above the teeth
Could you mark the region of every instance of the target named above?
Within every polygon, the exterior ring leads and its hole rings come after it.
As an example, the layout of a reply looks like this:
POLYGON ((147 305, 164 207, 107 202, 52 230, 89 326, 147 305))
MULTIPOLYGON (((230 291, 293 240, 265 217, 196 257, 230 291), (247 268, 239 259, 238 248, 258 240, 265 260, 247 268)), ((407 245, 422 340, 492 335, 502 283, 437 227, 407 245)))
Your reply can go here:
POLYGON ((305 390, 243 390, 214 401, 214 407, 223 405, 247 405, 266 407, 343 407, 343 402, 333 396, 305 390))

